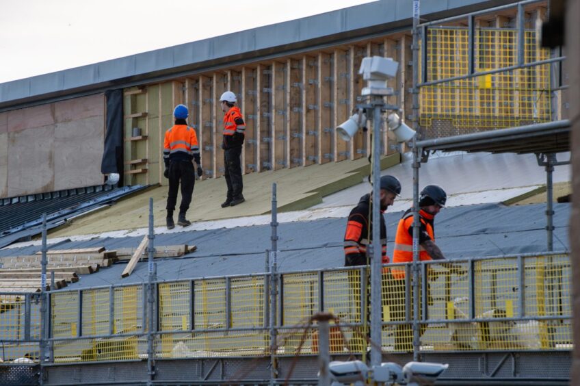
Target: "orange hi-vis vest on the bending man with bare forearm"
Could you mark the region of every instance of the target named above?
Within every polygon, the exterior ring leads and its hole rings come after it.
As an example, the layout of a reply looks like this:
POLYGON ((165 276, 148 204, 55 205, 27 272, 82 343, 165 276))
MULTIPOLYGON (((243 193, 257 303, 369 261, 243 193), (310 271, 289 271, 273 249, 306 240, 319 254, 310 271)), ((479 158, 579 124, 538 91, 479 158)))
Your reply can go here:
MULTIPOLYGON (((435 241, 433 218, 432 214, 428 214, 423 209, 419 210, 419 220, 421 221, 419 232, 423 232, 423 237, 419 237, 419 242, 421 242, 421 239, 435 241)), ((431 260, 431 256, 421 245, 419 245, 419 259, 421 261, 431 260)), ((395 235, 393 263, 408 263, 411 261, 413 261, 413 211, 409 209, 399 220, 397 235, 395 235)), ((391 267, 391 274, 393 274, 395 279, 405 279, 405 267, 391 267)))

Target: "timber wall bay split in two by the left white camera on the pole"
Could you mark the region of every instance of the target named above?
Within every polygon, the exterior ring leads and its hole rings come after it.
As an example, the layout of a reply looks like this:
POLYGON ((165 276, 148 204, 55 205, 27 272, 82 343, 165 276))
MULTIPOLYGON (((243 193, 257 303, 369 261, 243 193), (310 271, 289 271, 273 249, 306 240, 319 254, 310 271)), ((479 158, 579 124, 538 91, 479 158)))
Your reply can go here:
MULTIPOLYGON (((356 105, 361 103, 360 92, 363 90, 363 77, 358 76, 358 69, 363 57, 367 55, 367 47, 351 46, 349 53, 349 107, 351 112, 356 109, 356 105)), ((358 159, 367 155, 367 132, 359 129, 352 140, 350 140, 350 159, 358 159)))

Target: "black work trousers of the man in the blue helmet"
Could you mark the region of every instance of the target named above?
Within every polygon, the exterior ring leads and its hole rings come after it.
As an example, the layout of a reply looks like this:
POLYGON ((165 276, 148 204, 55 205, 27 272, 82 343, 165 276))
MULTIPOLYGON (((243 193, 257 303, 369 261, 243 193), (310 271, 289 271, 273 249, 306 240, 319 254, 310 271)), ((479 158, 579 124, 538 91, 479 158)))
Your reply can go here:
POLYGON ((192 203, 192 194, 194 194, 194 185, 196 183, 194 164, 191 161, 173 161, 169 164, 168 211, 175 210, 180 182, 181 205, 179 205, 179 213, 185 213, 189 209, 189 204, 192 203))

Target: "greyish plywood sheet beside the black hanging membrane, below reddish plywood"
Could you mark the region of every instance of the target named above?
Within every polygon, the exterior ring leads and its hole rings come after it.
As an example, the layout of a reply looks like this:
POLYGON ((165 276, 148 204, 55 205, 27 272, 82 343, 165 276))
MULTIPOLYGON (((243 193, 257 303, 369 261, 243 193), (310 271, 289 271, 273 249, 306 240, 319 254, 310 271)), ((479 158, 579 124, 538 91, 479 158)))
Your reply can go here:
POLYGON ((57 123, 54 130, 54 190, 103 183, 102 116, 57 123))

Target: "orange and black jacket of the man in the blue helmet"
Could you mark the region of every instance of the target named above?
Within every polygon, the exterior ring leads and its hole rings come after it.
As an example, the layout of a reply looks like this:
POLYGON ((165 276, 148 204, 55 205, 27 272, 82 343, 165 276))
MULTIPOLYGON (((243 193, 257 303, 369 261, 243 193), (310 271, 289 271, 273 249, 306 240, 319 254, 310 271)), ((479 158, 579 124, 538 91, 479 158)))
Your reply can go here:
POLYGON ((166 131, 163 141, 163 162, 169 167, 173 161, 196 160, 200 164, 199 143, 196 131, 187 126, 185 120, 176 120, 175 125, 166 131))

